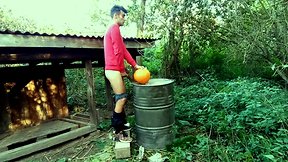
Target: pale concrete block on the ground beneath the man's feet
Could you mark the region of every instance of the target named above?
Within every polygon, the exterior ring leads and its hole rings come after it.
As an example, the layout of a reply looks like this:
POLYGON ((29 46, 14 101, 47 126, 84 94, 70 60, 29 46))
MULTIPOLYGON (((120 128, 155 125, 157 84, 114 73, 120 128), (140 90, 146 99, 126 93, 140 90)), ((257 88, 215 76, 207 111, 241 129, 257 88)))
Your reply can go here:
POLYGON ((116 159, 129 158, 131 156, 130 142, 116 142, 114 151, 116 159))

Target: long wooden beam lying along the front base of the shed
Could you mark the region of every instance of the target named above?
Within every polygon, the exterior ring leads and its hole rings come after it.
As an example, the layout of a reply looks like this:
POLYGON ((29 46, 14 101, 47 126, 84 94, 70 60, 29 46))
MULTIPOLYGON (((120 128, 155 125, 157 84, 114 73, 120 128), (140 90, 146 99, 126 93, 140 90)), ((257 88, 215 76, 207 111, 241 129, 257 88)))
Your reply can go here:
POLYGON ((78 138, 80 136, 83 136, 85 134, 91 133, 96 130, 95 126, 85 126, 82 128, 78 128, 75 130, 72 130, 67 133, 63 133, 61 135, 57 135, 55 137, 43 139, 41 141, 38 141, 33 144, 25 145, 19 148, 15 148, 13 150, 5 151, 0 153, 0 161, 9 161, 16 158, 19 158, 24 155, 31 154, 36 151, 40 151, 46 148, 49 148, 51 146, 78 138))

